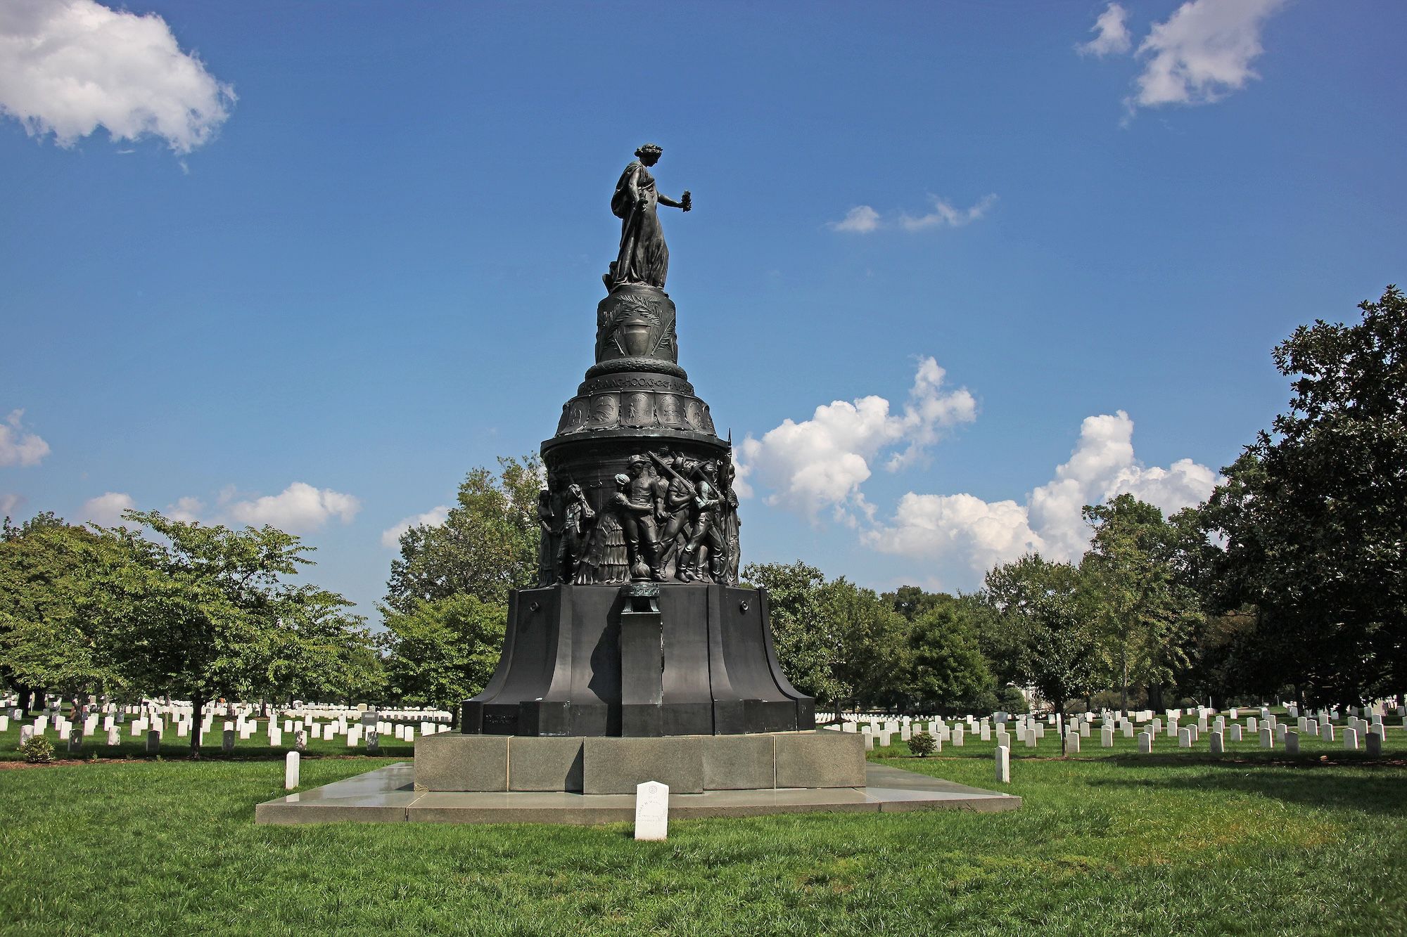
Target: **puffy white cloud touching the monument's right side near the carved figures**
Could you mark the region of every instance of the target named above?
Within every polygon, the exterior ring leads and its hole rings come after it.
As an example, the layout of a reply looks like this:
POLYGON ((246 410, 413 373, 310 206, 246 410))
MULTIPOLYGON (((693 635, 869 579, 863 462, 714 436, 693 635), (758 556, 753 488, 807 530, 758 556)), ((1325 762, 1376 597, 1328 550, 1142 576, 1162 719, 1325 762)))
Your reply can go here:
POLYGON ((749 435, 739 445, 737 491, 744 497, 760 485, 768 504, 785 505, 815 518, 822 508, 839 516, 871 508, 860 485, 882 450, 893 450, 886 467, 899 468, 938 439, 950 426, 976 418, 976 400, 967 388, 944 390, 946 373, 931 357, 919 362, 909 400, 892 412, 884 397, 861 397, 817 407, 810 419, 749 435))

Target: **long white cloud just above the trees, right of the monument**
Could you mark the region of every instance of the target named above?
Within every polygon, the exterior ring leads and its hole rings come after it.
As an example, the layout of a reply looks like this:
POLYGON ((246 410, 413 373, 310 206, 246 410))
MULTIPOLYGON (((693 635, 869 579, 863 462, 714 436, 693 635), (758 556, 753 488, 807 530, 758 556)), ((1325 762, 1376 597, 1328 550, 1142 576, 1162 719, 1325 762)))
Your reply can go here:
POLYGON ((861 533, 882 553, 950 560, 979 577, 1023 553, 1078 560, 1089 547, 1086 504, 1133 494, 1164 514, 1200 504, 1220 481, 1211 468, 1179 459, 1168 468, 1144 467, 1134 457, 1128 414, 1088 416, 1079 442, 1054 477, 1029 492, 1026 504, 986 502, 969 494, 905 494, 888 523, 861 533))

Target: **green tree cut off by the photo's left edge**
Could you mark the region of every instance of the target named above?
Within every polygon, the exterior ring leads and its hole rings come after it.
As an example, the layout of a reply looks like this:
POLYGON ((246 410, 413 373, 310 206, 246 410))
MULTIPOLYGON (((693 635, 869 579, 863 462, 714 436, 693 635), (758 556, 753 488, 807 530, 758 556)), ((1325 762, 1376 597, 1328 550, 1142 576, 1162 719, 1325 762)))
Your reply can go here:
POLYGON ((51 512, 0 526, 0 675, 28 710, 52 689, 65 695, 117 687, 94 654, 84 571, 110 549, 86 528, 51 512))

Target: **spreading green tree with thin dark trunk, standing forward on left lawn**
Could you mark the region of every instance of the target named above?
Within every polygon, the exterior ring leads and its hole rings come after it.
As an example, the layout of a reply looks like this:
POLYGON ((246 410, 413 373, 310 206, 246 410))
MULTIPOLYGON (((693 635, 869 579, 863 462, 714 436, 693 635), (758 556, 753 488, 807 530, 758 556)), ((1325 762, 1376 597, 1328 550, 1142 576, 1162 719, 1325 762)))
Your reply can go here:
MULTIPOLYGON (((132 687, 190 698, 197 720, 210 699, 250 695, 267 680, 273 650, 287 650, 281 616, 298 616, 307 598, 281 577, 310 564, 312 547, 272 526, 231 530, 156 511, 122 516, 141 526, 103 530, 120 549, 94 570, 98 656, 132 687), (142 528, 160 539, 144 537, 142 528)), ((198 730, 190 747, 198 757, 198 730)))

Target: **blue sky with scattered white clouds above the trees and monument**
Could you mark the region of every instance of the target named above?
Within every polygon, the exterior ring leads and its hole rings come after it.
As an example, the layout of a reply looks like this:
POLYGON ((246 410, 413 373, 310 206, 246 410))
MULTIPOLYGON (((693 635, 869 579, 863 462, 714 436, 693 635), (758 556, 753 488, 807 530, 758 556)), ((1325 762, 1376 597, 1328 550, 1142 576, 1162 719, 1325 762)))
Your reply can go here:
POLYGON ((656 141, 744 561, 971 589, 1078 556, 1081 504, 1195 502, 1287 400, 1271 346, 1407 280, 1404 25, 6 4, 0 508, 277 522, 374 618, 384 532, 553 432, 656 141))

